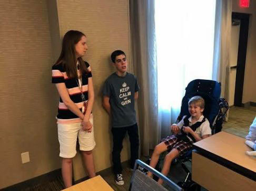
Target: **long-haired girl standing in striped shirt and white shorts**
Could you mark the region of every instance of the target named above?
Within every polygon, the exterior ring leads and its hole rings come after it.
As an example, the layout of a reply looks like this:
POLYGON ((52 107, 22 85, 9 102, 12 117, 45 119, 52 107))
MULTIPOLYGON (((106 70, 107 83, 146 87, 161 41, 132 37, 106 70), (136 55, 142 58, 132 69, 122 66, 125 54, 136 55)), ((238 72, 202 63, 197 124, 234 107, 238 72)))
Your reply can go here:
POLYGON ((92 72, 90 65, 81 58, 87 49, 83 33, 67 31, 63 37, 61 55, 52 67, 52 83, 55 83, 60 94, 56 118, 65 187, 72 186, 72 158, 76 154, 77 137, 88 176, 95 176, 92 72))

